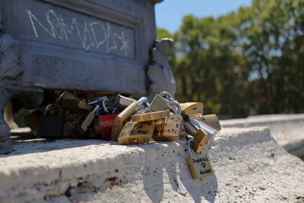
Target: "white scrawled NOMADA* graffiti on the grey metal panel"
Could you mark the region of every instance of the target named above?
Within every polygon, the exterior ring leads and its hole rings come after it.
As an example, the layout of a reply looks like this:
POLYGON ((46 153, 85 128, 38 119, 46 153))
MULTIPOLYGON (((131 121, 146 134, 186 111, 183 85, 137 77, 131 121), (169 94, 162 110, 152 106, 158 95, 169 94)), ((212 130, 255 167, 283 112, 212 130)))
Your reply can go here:
POLYGON ((125 39, 125 33, 123 31, 121 32, 121 35, 113 32, 109 22, 106 22, 106 26, 99 22, 83 22, 84 28, 81 30, 79 21, 76 18, 72 18, 71 24, 68 26, 61 15, 56 14, 53 10, 49 10, 45 14, 48 25, 41 23, 30 10, 27 9, 26 11, 36 38, 39 38, 37 25, 40 25, 53 38, 59 40, 69 41, 70 35, 76 33, 85 50, 90 50, 92 47, 98 49, 103 45, 106 48, 107 53, 111 50, 118 49, 122 51, 125 56, 128 56, 128 52, 130 51, 128 45, 129 40, 125 39), (51 20, 51 17, 53 20, 51 20), (121 45, 120 48, 119 45, 121 45))

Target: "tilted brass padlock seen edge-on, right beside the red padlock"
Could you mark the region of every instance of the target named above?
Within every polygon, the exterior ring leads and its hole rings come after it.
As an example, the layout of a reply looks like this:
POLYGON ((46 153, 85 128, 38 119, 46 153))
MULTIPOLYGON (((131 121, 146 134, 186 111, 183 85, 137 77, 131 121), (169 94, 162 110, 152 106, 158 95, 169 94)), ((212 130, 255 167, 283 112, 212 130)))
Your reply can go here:
POLYGON ((136 102, 133 102, 131 105, 129 105, 119 115, 117 115, 112 126, 112 141, 118 141, 118 137, 125 124, 130 121, 131 116, 139 110, 140 105, 145 103, 146 100, 146 97, 141 97, 136 102))

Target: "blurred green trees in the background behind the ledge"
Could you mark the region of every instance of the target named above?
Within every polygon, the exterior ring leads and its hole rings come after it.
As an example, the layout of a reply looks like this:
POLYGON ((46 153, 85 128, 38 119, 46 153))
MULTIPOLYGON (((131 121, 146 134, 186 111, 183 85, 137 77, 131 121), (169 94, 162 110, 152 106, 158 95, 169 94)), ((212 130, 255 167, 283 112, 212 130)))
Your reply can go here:
POLYGON ((172 35, 169 64, 180 102, 202 101, 205 112, 248 116, 303 112, 304 1, 252 0, 218 18, 184 16, 172 35))

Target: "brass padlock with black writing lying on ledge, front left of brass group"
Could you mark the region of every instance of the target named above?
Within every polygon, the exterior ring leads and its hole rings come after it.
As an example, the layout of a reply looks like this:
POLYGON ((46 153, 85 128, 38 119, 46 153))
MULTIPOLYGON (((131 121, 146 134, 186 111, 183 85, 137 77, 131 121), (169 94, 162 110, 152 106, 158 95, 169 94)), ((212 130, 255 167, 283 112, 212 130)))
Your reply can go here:
POLYGON ((153 121, 127 122, 123 127, 118 141, 121 145, 138 145, 151 141, 155 124, 153 121))

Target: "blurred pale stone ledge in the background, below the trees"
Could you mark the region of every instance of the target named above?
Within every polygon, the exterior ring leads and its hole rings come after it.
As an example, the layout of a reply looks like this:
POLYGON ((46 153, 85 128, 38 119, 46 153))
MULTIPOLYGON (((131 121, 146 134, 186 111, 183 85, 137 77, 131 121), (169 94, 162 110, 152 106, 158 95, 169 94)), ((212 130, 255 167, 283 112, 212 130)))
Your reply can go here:
POLYGON ((289 153, 304 159, 304 114, 258 115, 220 120, 225 127, 267 126, 273 138, 289 153))

